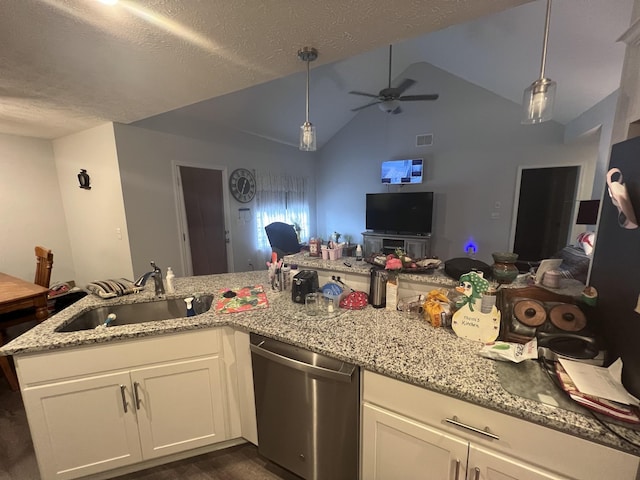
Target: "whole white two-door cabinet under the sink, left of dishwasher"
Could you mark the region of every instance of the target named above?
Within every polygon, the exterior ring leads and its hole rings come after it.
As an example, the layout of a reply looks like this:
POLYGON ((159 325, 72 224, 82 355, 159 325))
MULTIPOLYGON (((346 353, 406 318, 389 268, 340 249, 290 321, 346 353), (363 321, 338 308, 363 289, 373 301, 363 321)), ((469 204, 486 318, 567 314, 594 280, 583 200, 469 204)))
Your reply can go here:
POLYGON ((222 330, 17 357, 43 480, 239 436, 237 407, 228 404, 235 378, 225 375, 222 330))

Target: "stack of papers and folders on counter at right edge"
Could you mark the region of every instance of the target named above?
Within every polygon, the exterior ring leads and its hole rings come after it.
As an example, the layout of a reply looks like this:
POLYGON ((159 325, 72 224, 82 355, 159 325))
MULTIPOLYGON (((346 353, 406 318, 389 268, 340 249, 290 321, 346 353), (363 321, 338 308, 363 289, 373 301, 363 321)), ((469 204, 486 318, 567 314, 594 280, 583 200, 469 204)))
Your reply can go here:
POLYGON ((556 364, 560 383, 573 400, 604 415, 640 424, 640 402, 625 390, 621 373, 619 359, 608 368, 565 359, 556 364))

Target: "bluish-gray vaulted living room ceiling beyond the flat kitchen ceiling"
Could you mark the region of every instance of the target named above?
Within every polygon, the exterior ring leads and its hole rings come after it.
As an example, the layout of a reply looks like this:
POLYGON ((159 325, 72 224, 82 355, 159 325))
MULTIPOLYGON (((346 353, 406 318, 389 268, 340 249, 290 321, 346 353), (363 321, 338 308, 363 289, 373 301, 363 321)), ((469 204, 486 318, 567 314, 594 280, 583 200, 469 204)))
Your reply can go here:
MULTIPOLYGON (((556 0, 552 4, 546 74, 558 83, 554 120, 568 123, 620 84, 633 0, 556 0)), ((540 73, 546 2, 526 3, 393 45, 393 85, 412 64, 427 62, 515 103, 540 73)), ((377 93, 387 86, 388 46, 311 70, 311 115, 324 145, 367 103, 350 90, 377 93)), ((322 51, 320 52, 322 56, 322 51)), ((300 62, 301 63, 301 62, 300 62)), ((165 131, 206 137, 217 124, 296 146, 304 120, 305 71, 138 122, 165 131)), ((313 65, 313 64, 312 64, 313 65)), ((407 94, 434 92, 428 80, 407 94)), ((440 98, 439 103, 446 102, 440 98)), ((403 109, 422 108, 404 104, 403 109)), ((473 108, 472 105, 469 108, 473 108)), ((368 114, 384 115, 371 107, 368 114)))

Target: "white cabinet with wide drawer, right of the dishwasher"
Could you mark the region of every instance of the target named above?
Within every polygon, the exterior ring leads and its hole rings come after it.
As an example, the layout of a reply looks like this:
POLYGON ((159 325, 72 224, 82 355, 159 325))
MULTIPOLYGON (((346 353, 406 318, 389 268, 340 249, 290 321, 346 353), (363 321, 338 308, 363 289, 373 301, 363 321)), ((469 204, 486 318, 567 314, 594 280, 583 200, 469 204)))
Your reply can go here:
POLYGON ((397 478, 456 478, 456 441, 468 448, 466 473, 456 480, 634 479, 638 471, 638 457, 625 452, 369 371, 362 400, 362 480, 393 478, 385 472, 394 468, 405 474, 397 478), (421 477, 425 463, 403 451, 437 459, 436 447, 439 474, 421 477))

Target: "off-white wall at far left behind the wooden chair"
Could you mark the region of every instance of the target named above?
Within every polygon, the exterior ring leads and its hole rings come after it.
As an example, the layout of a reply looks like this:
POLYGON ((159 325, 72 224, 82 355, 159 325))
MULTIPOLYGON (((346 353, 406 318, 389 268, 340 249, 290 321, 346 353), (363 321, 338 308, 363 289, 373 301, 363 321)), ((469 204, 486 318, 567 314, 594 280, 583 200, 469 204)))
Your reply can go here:
POLYGON ((53 251, 51 282, 76 280, 49 140, 0 134, 0 198, 0 271, 33 282, 42 245, 53 251))

